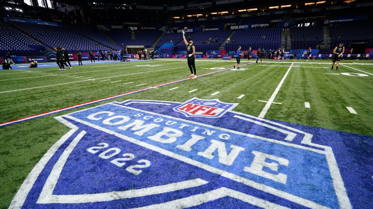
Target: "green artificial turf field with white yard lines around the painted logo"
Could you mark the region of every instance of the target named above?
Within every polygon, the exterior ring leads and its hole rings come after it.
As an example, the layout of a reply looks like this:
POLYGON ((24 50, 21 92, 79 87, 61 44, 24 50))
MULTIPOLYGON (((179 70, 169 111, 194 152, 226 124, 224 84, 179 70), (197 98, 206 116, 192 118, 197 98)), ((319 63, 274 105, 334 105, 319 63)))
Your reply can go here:
POLYGON ((198 75, 221 71, 156 87, 187 78, 186 60, 113 62, 65 71, 1 70, 0 123, 155 88, 1 127, 0 208, 9 206, 35 164, 69 131, 54 117, 112 101, 219 99, 239 103, 234 111, 248 115, 373 136, 372 61, 342 60, 339 71, 330 70, 329 60, 266 61, 243 65, 241 70, 222 70, 232 68, 235 61, 195 64, 198 75))

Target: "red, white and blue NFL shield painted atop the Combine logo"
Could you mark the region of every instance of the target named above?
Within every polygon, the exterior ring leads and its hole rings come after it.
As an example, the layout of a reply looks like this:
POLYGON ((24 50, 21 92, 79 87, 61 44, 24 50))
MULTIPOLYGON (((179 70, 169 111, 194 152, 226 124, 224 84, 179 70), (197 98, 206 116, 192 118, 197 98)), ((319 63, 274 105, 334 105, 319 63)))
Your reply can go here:
POLYGON ((186 117, 220 118, 228 110, 232 110, 238 103, 220 102, 219 99, 206 100, 194 97, 185 103, 173 108, 186 117))

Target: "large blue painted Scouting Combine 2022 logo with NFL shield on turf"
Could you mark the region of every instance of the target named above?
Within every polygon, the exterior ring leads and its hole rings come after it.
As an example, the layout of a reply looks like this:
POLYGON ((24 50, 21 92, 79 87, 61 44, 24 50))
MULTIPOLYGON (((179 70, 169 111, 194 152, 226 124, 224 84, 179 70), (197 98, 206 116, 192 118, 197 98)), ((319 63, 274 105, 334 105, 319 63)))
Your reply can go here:
POLYGON ((237 105, 127 100, 58 116, 71 130, 10 208, 352 208, 332 148, 308 132, 326 129, 237 105))

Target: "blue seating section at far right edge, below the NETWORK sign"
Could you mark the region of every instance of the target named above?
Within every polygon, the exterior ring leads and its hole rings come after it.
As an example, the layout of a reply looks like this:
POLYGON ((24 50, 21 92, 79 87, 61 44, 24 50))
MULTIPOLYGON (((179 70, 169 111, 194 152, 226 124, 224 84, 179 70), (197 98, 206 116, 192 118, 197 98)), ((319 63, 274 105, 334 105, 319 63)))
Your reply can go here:
POLYGON ((332 47, 341 42, 346 48, 353 42, 367 42, 367 48, 373 48, 373 25, 370 20, 333 23, 330 37, 332 47))

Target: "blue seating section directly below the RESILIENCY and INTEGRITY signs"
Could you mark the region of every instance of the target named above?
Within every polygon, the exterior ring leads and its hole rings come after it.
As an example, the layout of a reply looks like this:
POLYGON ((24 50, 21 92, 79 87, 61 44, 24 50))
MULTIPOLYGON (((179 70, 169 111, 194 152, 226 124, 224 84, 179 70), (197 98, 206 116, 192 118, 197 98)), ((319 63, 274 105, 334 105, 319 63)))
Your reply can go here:
POLYGON ((225 44, 226 50, 236 50, 238 46, 242 49, 277 49, 281 45, 281 29, 238 29, 231 37, 231 43, 225 44), (262 38, 263 35, 265 38, 262 38), (235 40, 235 43, 232 41, 235 40))

